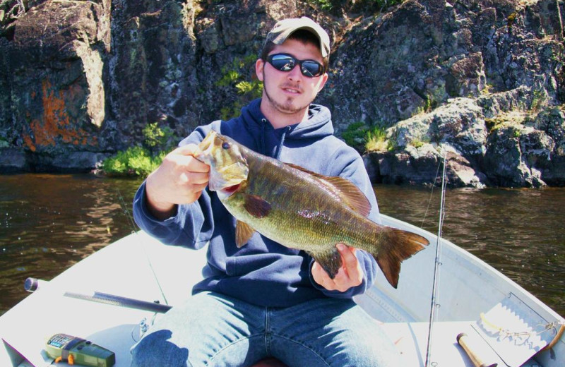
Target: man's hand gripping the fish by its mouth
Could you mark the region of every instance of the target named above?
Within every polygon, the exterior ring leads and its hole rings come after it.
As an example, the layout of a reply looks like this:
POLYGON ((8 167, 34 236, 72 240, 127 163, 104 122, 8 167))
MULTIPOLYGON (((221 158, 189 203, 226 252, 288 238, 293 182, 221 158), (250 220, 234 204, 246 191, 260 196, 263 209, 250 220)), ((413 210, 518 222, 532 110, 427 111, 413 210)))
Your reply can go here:
POLYGON ((170 152, 147 177, 145 195, 149 210, 157 219, 167 219, 178 204, 194 203, 200 198, 208 185, 210 166, 196 160, 199 152, 196 144, 183 145, 170 152))

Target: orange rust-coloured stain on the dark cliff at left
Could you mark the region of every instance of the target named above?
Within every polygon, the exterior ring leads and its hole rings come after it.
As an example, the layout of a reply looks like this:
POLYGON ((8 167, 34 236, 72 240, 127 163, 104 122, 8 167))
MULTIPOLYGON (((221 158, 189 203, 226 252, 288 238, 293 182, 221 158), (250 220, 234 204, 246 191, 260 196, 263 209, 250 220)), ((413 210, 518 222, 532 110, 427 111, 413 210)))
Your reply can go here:
MULTIPOLYGON (((72 93, 71 90, 69 92, 72 93)), ((42 119, 41 121, 35 119, 30 124, 34 139, 29 136, 25 137, 30 150, 35 151, 36 146, 54 146, 57 141, 79 145, 83 140, 84 142, 90 141, 90 145, 96 145, 96 137, 88 139, 89 134, 70 120, 66 112, 64 97, 64 92, 54 90, 49 80, 42 81, 42 119)))

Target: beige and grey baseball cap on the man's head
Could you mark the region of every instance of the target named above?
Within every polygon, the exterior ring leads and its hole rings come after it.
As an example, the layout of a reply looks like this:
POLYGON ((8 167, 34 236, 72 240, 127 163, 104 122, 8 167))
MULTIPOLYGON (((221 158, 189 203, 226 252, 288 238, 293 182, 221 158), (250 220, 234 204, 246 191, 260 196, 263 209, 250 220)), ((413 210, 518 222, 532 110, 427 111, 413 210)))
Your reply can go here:
POLYGON ((287 38, 295 32, 296 30, 309 30, 310 32, 314 33, 316 37, 320 40, 320 51, 322 53, 322 57, 328 56, 330 53, 330 37, 328 33, 326 33, 321 26, 311 20, 303 16, 302 18, 289 18, 279 20, 272 30, 267 35, 267 42, 273 42, 274 44, 283 44, 287 38))

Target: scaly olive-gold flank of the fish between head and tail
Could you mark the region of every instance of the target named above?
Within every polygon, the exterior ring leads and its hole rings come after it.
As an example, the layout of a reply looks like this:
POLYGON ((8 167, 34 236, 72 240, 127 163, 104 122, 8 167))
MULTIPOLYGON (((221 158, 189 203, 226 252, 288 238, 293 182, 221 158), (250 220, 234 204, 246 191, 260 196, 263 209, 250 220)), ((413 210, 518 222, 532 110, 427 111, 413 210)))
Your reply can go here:
POLYGON ((332 200, 335 195, 318 179, 275 160, 244 157, 254 174, 249 175, 244 192, 236 192, 229 199, 233 211, 237 211, 235 217, 261 228, 259 231, 274 241, 311 252, 334 248, 338 242, 363 249, 371 246, 366 223, 371 221, 332 200), (269 215, 250 215, 244 207, 247 194, 270 203, 269 215))

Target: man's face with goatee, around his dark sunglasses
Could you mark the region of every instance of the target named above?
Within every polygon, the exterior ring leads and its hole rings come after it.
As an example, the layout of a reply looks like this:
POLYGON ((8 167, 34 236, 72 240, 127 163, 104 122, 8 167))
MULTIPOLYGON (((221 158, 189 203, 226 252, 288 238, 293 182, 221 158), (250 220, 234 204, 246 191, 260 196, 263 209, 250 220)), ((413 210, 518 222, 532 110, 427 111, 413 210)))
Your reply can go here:
MULTIPOLYGON (((286 40, 276 45, 269 54, 290 54, 299 60, 315 60, 323 64, 321 52, 314 44, 304 44, 298 40, 286 40)), ((259 59, 255 65, 259 80, 263 81, 263 104, 277 114, 302 114, 328 80, 328 74, 309 78, 302 75, 297 65, 291 71, 279 71, 259 59)), ((300 121, 300 120, 299 120, 300 121)))

